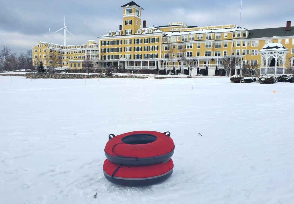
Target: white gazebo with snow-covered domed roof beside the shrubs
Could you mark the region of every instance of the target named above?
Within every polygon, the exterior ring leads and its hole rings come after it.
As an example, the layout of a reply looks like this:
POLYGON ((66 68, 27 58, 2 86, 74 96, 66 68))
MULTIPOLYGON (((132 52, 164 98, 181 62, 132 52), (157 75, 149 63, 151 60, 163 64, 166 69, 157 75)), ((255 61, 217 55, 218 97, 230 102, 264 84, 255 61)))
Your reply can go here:
POLYGON ((289 52, 284 45, 280 43, 269 43, 263 46, 258 51, 261 55, 260 61, 260 75, 282 75, 285 74, 285 59, 286 54, 289 52), (275 66, 270 66, 272 59, 275 59, 275 66))

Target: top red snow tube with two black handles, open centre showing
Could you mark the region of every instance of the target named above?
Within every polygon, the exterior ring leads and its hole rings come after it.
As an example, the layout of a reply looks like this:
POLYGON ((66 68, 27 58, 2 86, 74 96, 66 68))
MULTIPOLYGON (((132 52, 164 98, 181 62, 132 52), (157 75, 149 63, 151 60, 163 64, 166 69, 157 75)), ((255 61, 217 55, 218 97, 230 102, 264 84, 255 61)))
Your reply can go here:
POLYGON ((175 145, 170 135, 170 132, 155 131, 134 131, 117 136, 110 134, 104 152, 108 160, 119 165, 157 164, 173 155, 175 145))

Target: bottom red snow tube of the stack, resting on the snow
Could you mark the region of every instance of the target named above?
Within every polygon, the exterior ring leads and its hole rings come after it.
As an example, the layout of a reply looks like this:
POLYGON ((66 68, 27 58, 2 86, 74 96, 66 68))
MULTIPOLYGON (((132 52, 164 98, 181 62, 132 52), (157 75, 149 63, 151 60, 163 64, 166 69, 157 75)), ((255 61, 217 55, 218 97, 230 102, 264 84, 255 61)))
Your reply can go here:
POLYGON ((153 185, 171 176, 173 160, 149 166, 121 166, 106 159, 103 163, 103 173, 107 180, 118 185, 153 185))

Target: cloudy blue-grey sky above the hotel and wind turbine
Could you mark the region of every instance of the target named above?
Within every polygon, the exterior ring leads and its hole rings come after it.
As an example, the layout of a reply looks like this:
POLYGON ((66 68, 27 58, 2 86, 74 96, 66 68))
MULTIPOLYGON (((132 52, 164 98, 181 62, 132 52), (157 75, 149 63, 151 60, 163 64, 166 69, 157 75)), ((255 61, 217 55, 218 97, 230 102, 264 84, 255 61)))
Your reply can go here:
MULTIPOLYGON (((37 1, 0 0, 0 46, 25 52, 39 41, 63 44, 63 16, 68 30, 67 44, 86 44, 87 40, 118 30, 122 24, 120 6, 125 0, 37 1)), ((144 11, 147 26, 182 21, 188 26, 239 24, 240 0, 135 0, 144 11)), ((294 26, 294 1, 243 0, 241 27, 246 29, 294 26)))

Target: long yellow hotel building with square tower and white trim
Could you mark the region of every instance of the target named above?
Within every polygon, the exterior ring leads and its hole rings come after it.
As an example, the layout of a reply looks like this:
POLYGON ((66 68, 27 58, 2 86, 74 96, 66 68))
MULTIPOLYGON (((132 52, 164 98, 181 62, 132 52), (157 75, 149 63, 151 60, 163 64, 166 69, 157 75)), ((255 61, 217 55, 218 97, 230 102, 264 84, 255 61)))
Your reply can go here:
MULTIPOLYGON (((121 6, 123 22, 117 31, 108 31, 98 39, 87 41, 85 45, 62 46, 45 42, 37 43, 33 49, 33 59, 43 60, 44 65, 52 65, 52 57, 61 55, 60 67, 66 69, 83 69, 85 57, 91 57, 96 70, 102 67, 122 70, 148 70, 148 72, 168 74, 172 69, 178 74, 199 73, 224 75, 220 60, 223 56, 233 55, 235 67, 230 74, 239 74, 245 64, 258 64, 261 67, 269 62, 262 60, 258 51, 266 44, 281 43, 289 51, 283 64, 284 73, 294 67, 294 27, 287 21, 286 27, 248 30, 235 24, 220 26, 188 26, 183 22, 168 23, 165 26, 146 27, 141 22, 144 9, 134 1, 121 6), (49 58, 48 58, 49 56, 49 58), (185 59, 185 62, 183 62, 185 59), (189 62, 190 61, 190 62, 189 62), (153 70, 153 71, 152 71, 153 70), (158 70, 158 71, 157 71, 158 70), (188 73, 191 72, 191 73, 188 73)), ((56 58, 56 57, 55 57, 56 58)), ((282 60, 282 61, 281 61, 282 60)), ((278 63, 278 64, 279 64, 278 63)), ((226 73, 228 74, 228 73, 226 73)), ((260 69, 252 73, 259 75, 260 69)))

